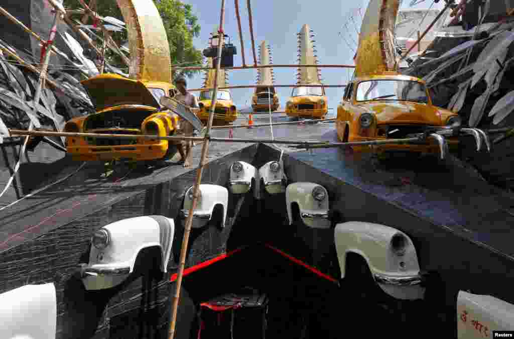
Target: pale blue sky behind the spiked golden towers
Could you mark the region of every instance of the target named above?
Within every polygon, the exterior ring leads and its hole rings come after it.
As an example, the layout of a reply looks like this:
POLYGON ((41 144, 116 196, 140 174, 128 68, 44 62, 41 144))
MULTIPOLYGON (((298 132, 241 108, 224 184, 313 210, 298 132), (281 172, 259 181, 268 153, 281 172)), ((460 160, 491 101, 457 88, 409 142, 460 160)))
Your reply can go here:
MULTIPOLYGON (((182 0, 191 4, 193 13, 198 17, 201 26, 200 36, 194 38, 196 48, 203 50, 208 46, 209 35, 219 25, 221 10, 220 0, 182 0)), ((427 9, 432 0, 425 0, 418 5, 410 7, 412 0, 404 0, 400 9, 427 9)), ((420 0, 418 0, 419 2, 420 0)), ((360 30, 361 16, 364 15, 368 0, 259 0, 251 2, 253 34, 255 39, 255 53, 257 58, 258 46, 263 40, 271 48, 274 64, 297 63, 297 33, 304 24, 308 24, 314 30, 314 40, 320 64, 351 64, 355 54, 357 31, 360 30), (351 6, 348 6, 351 5, 351 6), (358 9, 361 8, 360 13, 358 9), (353 20, 350 16, 353 14, 353 20), (343 27, 348 23, 346 27, 343 27), (346 42, 344 39, 346 39, 346 42), (353 39, 353 40, 352 40, 353 39), (350 49, 352 47, 354 50, 350 49)), ((253 64, 251 48, 251 35, 248 23, 247 2, 239 0, 241 16, 241 28, 243 31, 243 44, 245 59, 248 65, 253 64)), ((432 9, 441 9, 444 1, 434 4, 432 9)), ((237 29, 234 1, 225 2, 225 33, 229 35, 231 42, 237 48, 234 56, 234 66, 242 65, 241 43, 237 29)), ((346 84, 351 77, 353 69, 348 68, 320 68, 323 84, 346 84)), ((274 68, 275 84, 292 85, 296 83, 296 68, 274 68)), ((243 69, 228 72, 229 85, 254 85, 257 70, 243 69)), ((203 74, 198 74, 188 80, 189 88, 199 88, 203 85, 203 74)), ((292 88, 276 88, 280 103, 283 107, 291 95, 292 88)), ((238 109, 251 104, 254 88, 233 89, 231 94, 238 109)), ((326 88, 328 98, 328 114, 335 115, 337 105, 344 92, 343 87, 326 88), (331 110, 332 109, 332 110, 331 110)), ((195 92, 195 95, 198 95, 195 92)))

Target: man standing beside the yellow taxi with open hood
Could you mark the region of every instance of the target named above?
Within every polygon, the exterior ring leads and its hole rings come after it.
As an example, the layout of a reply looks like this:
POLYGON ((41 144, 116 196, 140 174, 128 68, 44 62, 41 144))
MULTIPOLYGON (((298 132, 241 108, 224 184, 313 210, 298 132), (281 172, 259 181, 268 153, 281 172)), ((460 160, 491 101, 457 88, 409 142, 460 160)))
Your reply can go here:
MULTIPOLYGON (((189 106, 193 109, 199 109, 198 108, 198 100, 196 100, 196 97, 189 93, 187 91, 187 82, 186 78, 179 77, 175 84, 178 88, 179 93, 175 96, 175 100, 182 102, 186 106, 189 106)), ((194 110, 192 110, 194 111, 194 110)), ((188 122, 186 119, 180 118, 180 130, 177 133, 178 135, 183 136, 193 136, 193 125, 188 122)), ((191 140, 183 140, 179 142, 178 144, 178 152, 180 153, 181 160, 180 162, 183 162, 184 167, 189 167, 189 159, 191 157, 191 148, 192 148, 192 142, 191 140)))

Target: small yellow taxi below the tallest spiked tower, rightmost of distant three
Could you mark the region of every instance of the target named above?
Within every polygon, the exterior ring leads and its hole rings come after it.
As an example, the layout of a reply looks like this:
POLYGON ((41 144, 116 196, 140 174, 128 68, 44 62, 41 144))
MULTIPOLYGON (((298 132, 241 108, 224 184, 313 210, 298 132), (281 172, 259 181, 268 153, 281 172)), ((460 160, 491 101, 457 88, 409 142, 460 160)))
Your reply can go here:
POLYGON ((308 84, 293 88, 285 112, 292 118, 323 119, 328 112, 325 88, 308 84))

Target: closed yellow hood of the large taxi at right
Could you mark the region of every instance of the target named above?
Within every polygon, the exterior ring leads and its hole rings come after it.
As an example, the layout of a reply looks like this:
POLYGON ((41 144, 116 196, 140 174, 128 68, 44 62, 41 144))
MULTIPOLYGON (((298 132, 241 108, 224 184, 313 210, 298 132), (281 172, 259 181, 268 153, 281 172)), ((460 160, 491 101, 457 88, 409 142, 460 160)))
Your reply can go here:
POLYGON ((375 114, 377 123, 421 123, 440 126, 439 110, 432 105, 418 102, 364 102, 357 107, 375 114))

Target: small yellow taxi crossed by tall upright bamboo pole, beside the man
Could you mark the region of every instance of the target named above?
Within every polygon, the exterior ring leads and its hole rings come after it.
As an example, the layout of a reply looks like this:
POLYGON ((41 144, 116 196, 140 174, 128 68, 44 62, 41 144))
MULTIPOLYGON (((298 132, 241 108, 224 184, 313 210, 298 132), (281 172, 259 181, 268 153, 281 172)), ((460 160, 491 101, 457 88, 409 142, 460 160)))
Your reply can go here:
MULTIPOLYGON (((197 113, 201 122, 207 123, 212 105, 212 91, 201 91, 198 100, 200 111, 197 113)), ((237 119, 237 108, 229 91, 218 90, 214 109, 214 125, 224 125, 237 119)))

